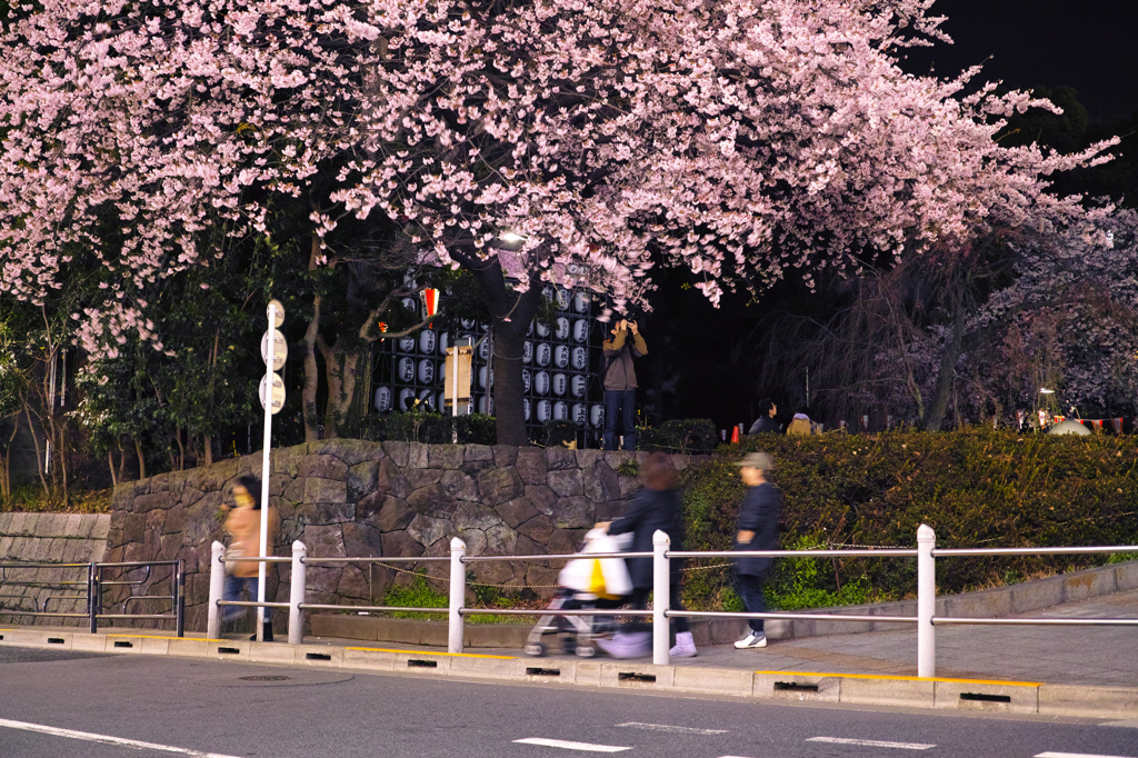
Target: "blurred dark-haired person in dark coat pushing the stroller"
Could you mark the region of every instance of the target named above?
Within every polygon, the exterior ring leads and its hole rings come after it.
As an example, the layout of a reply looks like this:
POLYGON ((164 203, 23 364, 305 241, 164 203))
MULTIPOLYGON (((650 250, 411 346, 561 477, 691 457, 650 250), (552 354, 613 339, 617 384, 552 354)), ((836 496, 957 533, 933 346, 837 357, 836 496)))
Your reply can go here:
MULTIPOLYGON (((628 505, 624 517, 609 524, 599 524, 607 528, 610 535, 633 534, 632 552, 651 553, 652 535, 661 529, 671 541, 671 550, 683 550, 681 535, 681 497, 676 489, 679 476, 671 467, 671 460, 662 453, 648 456, 642 476, 644 488, 628 505)), ((628 574, 633 583, 629 604, 643 610, 648 607, 648 596, 652 592, 652 559, 629 558, 628 574)), ((669 566, 671 592, 669 608, 683 610, 679 602, 679 571, 682 560, 671 560, 669 566)), ((695 656, 695 642, 686 618, 671 619, 675 633, 675 645, 671 654, 677 658, 695 656)), ((638 658, 652 653, 652 633, 648 624, 637 620, 626 624, 612 640, 597 640, 597 645, 613 658, 638 658)))

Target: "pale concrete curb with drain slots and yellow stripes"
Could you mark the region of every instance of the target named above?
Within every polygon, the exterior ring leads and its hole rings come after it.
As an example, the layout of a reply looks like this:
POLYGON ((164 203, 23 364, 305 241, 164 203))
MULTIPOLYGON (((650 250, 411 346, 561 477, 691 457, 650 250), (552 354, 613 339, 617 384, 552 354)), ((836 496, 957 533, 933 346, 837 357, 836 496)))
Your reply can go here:
POLYGON ((516 658, 248 640, 0 628, 0 645, 84 652, 207 658, 247 664, 460 676, 641 692, 727 695, 937 710, 1038 714, 1083 718, 1138 717, 1138 687, 1055 685, 996 679, 920 678, 872 674, 764 672, 654 666, 619 660, 516 658))

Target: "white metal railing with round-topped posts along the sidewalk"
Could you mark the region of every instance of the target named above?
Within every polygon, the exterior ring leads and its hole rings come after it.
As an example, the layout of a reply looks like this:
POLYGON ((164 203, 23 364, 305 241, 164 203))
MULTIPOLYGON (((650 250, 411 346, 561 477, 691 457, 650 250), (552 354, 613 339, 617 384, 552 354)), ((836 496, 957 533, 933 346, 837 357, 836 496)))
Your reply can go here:
POLYGON ((351 610, 351 611, 414 611, 421 613, 446 613, 448 619, 447 650, 456 653, 463 649, 463 617, 472 613, 495 613, 502 616, 651 616, 652 617, 652 662, 667 665, 669 653, 669 618, 735 618, 735 619, 805 619, 811 621, 839 623, 885 623, 913 624, 917 628, 917 676, 927 678, 935 676, 937 669, 937 633, 941 625, 975 624, 975 625, 1041 625, 1041 626, 1138 626, 1138 618, 979 618, 937 616, 937 558, 960 558, 976 555, 1058 555, 1088 553, 1129 553, 1138 552, 1138 545, 1111 545, 1094 547, 986 547, 986 549, 946 549, 935 547, 935 533, 927 525, 917 529, 916 549, 872 549, 872 550, 758 550, 758 551, 671 551, 668 550, 668 535, 657 532, 653 537, 651 553, 574 553, 574 554, 537 554, 537 555, 471 555, 468 557, 467 545, 459 537, 451 539, 450 557, 421 555, 415 558, 308 558, 307 547, 297 541, 292 543, 292 558, 246 558, 246 561, 284 562, 292 565, 290 595, 288 603, 256 603, 242 601, 225 601, 222 599, 224 588, 224 545, 213 544, 213 560, 209 580, 209 626, 211 637, 220 636, 221 613, 224 605, 288 608, 289 609, 289 643, 303 642, 304 611, 306 610, 351 610), (811 611, 764 613, 727 612, 727 611, 673 611, 668 608, 670 598, 669 561, 673 558, 916 558, 917 559, 917 613, 916 616, 869 616, 858 613, 817 613, 811 611), (549 561, 571 560, 577 558, 651 558, 653 576, 652 610, 599 610, 599 609, 505 609, 505 608, 465 608, 467 563, 486 561, 549 561), (393 605, 338 605, 323 603, 306 603, 305 567, 307 565, 340 563, 394 563, 394 562, 450 562, 450 604, 447 608, 403 608, 393 605))

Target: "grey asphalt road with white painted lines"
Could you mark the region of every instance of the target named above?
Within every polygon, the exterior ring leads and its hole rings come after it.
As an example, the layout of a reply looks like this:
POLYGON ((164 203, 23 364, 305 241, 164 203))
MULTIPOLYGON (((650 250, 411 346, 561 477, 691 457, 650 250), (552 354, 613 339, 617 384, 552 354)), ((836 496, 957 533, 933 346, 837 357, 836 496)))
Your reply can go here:
POLYGON ((1138 758, 1138 720, 1105 725, 772 705, 0 648, 3 758, 569 758, 604 752, 1138 758))

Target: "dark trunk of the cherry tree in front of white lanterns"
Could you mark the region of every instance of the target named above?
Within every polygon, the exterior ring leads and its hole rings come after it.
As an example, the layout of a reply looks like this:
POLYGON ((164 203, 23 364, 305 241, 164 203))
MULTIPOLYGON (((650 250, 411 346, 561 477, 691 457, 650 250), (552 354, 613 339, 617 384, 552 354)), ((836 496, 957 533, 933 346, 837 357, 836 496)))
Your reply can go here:
POLYGON ((529 444, 522 406, 525 385, 521 356, 526 330, 534 320, 542 296, 541 281, 530 278, 529 289, 518 295, 506 288, 497 258, 472 272, 478 280, 494 324, 494 420, 497 444, 529 444))

